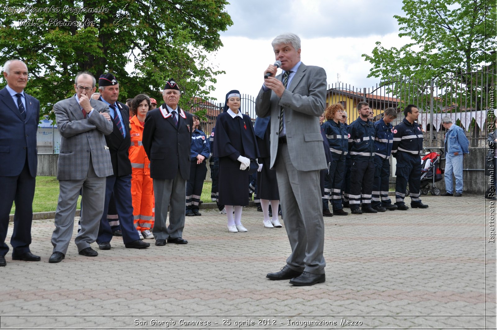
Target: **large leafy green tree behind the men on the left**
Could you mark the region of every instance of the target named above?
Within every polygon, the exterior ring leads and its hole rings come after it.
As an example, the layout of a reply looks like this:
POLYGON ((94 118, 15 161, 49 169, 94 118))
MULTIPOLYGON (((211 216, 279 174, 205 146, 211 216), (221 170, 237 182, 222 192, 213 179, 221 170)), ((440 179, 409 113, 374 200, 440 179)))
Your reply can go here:
MULTIPOLYGON (((42 115, 74 93, 74 77, 113 73, 120 100, 147 93, 161 102, 165 81, 182 89, 180 105, 207 98, 222 73, 206 55, 222 46, 232 25, 226 0, 10 0, 0 12, 0 62, 24 61, 26 91, 42 115), (96 11, 96 12, 94 12, 96 11), (76 22, 76 23, 75 23, 76 22), (125 67, 134 65, 128 73, 125 67)), ((3 85, 5 82, 3 82, 3 85)))

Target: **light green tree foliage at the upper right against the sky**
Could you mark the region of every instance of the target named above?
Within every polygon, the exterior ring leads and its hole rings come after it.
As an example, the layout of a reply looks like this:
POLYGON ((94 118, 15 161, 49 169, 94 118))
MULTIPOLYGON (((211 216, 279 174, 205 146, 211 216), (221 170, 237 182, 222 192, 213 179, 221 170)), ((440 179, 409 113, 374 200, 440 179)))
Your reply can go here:
POLYGON ((496 2, 490 0, 403 0, 405 16, 395 15, 400 37, 412 42, 386 49, 380 42, 368 77, 415 77, 440 81, 448 73, 471 72, 495 63, 496 2))

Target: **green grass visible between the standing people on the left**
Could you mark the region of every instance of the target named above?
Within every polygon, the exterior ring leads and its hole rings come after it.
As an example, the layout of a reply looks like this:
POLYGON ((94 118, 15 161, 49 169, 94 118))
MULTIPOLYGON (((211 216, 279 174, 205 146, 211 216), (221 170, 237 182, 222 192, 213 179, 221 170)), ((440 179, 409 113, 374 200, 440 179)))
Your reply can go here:
MULTIPOLYGON (((211 203, 211 182, 204 182, 201 199, 204 203, 211 203)), ((34 190, 33 212, 54 212, 59 199, 59 180, 55 176, 36 176, 34 190)), ((80 208, 81 196, 78 199, 80 208)), ((12 205, 10 214, 14 214, 15 205, 12 205)))

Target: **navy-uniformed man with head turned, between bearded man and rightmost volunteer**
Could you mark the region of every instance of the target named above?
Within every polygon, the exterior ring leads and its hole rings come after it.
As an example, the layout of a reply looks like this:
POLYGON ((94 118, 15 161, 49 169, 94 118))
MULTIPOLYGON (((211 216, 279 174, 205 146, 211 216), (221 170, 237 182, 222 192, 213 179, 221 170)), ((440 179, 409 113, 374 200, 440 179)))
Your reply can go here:
POLYGON ((394 142, 394 132, 391 122, 395 118, 397 118, 397 111, 394 108, 386 108, 383 118, 374 123, 376 153, 374 157, 375 172, 371 205, 378 212, 397 210, 397 205, 392 204, 390 197, 388 197, 390 156, 394 142))

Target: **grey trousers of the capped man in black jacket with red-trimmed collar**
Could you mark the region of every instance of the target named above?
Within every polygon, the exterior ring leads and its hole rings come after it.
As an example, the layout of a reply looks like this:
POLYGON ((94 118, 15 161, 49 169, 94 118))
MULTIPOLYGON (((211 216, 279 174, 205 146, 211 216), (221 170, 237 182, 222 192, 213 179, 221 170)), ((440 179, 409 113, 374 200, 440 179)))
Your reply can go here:
POLYGON ((185 226, 186 180, 178 172, 173 179, 154 179, 155 222, 152 233, 156 240, 182 237, 185 226), (166 226, 170 204, 169 226, 166 226))

